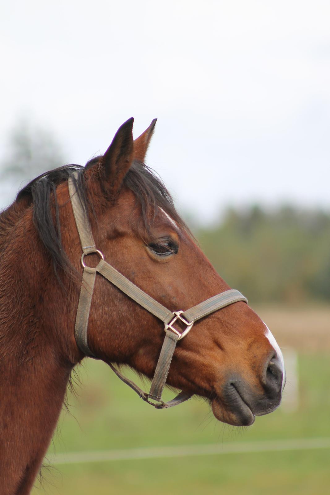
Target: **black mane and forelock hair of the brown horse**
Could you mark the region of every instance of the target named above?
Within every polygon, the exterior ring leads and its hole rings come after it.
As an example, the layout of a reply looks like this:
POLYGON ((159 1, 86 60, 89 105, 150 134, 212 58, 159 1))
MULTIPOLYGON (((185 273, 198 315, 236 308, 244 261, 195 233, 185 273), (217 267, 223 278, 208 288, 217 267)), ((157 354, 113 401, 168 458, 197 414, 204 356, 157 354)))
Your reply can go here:
MULTIPOLYGON (((93 211, 93 205, 89 203, 84 171, 99 163, 102 157, 93 158, 85 167, 80 165, 66 165, 46 172, 32 180, 19 191, 16 201, 25 200, 27 204, 33 204, 33 221, 41 241, 50 254, 54 270, 58 274, 58 268, 72 274, 72 266, 64 252, 61 242, 61 226, 59 221, 59 208, 55 194, 56 187, 66 182, 75 170, 79 171, 77 181, 78 193, 87 210, 93 211), (53 219, 51 205, 55 207, 55 221, 53 219)), ((156 206, 161 207, 175 222, 188 231, 184 221, 177 213, 173 199, 165 185, 155 173, 139 161, 134 161, 125 176, 123 187, 130 189, 141 207, 141 220, 146 231, 150 230, 156 206)))

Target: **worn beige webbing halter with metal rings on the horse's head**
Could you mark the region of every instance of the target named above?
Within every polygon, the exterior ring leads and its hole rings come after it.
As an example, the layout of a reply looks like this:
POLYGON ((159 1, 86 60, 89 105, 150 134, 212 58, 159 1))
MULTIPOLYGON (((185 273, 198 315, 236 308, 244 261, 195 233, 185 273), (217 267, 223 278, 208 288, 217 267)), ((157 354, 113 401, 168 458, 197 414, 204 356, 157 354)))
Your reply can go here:
POLYGON ((134 382, 124 377, 111 363, 109 363, 109 366, 124 383, 131 387, 143 400, 154 407, 164 409, 180 404, 181 402, 189 399, 191 396, 181 392, 174 399, 166 403, 163 402, 161 398, 163 389, 166 385, 167 375, 177 342, 189 333, 196 320, 203 318, 214 311, 218 311, 225 306, 233 304, 234 302, 244 301, 247 303, 247 299, 240 292, 232 289, 210 297, 187 311, 170 311, 155 299, 148 296, 148 294, 143 292, 139 289, 139 287, 133 284, 133 282, 124 277, 124 275, 119 273, 113 266, 104 261, 103 254, 101 251, 96 249, 87 212, 81 201, 79 193, 77 192, 77 178, 78 171, 75 171, 73 173, 73 177, 69 178, 68 183, 73 214, 83 249, 81 263, 83 265, 84 272, 75 326, 77 345, 81 351, 84 352, 84 354, 97 359, 88 346, 87 331, 95 277, 96 273, 100 273, 109 282, 118 287, 118 289, 120 289, 124 294, 131 297, 131 299, 140 304, 140 306, 163 321, 165 325, 165 339, 160 351, 149 394, 143 392, 134 382), (85 264, 85 255, 91 253, 98 254, 100 257, 100 260, 95 268, 91 268, 85 264), (186 326, 184 331, 180 331, 175 327, 178 320, 181 322, 181 326, 186 326))

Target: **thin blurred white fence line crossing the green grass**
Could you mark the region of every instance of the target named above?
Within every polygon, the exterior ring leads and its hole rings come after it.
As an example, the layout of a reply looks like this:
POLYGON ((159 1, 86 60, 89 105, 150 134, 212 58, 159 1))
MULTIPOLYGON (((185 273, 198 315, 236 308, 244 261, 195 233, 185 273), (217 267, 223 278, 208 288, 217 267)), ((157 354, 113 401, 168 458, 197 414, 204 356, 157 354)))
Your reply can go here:
POLYGON ((108 462, 165 457, 191 457, 198 455, 247 454, 284 450, 310 450, 330 448, 330 437, 239 442, 233 444, 186 445, 174 447, 131 448, 120 450, 96 450, 90 452, 59 453, 47 460, 51 464, 76 464, 84 462, 108 462))

